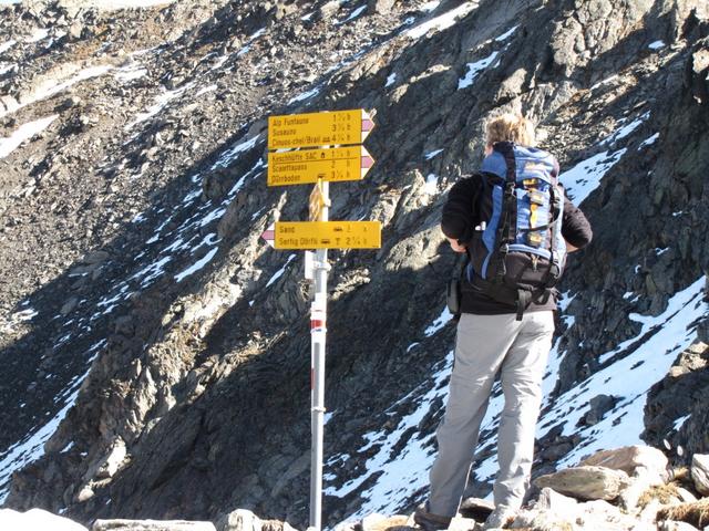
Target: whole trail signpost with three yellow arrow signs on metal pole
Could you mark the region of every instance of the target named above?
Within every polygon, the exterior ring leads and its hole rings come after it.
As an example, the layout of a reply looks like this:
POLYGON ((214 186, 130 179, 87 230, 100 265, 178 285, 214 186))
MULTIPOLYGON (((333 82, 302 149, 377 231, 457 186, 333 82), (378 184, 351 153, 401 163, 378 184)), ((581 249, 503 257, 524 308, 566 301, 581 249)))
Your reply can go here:
POLYGON ((306 278, 315 282, 310 305, 310 528, 315 531, 322 529, 327 253, 381 247, 379 221, 328 220, 329 184, 364 178, 374 159, 360 144, 373 127, 361 108, 268 118, 268 186, 316 185, 309 198, 310 221, 277 221, 261 235, 275 249, 306 250, 306 278), (310 249, 316 249, 315 258, 310 249))

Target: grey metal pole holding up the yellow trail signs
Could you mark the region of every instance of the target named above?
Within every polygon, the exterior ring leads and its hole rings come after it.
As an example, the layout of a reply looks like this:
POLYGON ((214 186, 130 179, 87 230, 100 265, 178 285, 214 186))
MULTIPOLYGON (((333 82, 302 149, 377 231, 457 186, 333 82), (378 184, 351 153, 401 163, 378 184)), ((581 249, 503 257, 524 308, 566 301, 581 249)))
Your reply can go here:
MULTIPOLYGON (((318 221, 328 220, 329 183, 320 181, 322 209, 318 221)), ((310 527, 322 529, 322 448, 325 434, 325 340, 327 332, 328 250, 317 249, 315 299, 310 306, 310 403, 312 423, 310 466, 310 527)))

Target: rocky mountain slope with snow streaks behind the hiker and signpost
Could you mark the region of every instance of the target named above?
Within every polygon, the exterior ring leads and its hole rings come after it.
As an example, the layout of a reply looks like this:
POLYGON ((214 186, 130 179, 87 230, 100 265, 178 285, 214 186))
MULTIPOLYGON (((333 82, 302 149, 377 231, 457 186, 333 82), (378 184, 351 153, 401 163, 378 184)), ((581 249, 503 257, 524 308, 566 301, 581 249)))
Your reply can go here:
MULTIPOLYGON (((438 221, 500 110, 540 123, 595 231, 563 284, 535 475, 640 436, 677 462, 706 452, 708 10, 2 8, 4 503, 304 527, 309 287, 301 253, 259 235, 306 219, 310 191, 266 187, 267 116, 325 110, 377 122, 377 164, 332 185, 331 219, 383 225, 380 250, 330 253, 328 524, 424 497, 454 335, 438 221)), ((499 403, 471 493, 494 473, 499 403)))

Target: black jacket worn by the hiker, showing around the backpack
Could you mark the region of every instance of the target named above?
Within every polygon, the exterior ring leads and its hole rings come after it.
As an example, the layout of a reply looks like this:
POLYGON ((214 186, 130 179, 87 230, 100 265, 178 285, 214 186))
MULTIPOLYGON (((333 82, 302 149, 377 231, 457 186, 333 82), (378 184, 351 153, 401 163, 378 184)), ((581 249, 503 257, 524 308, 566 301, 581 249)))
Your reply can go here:
MULTIPOLYGON (((448 200, 443 206, 441 229, 448 238, 453 238, 461 244, 467 244, 473 236, 473 229, 482 221, 475 211, 483 190, 482 176, 474 174, 463 177, 449 191, 448 200)), ((562 220, 562 236, 572 246, 582 249, 586 247, 593 237, 588 220, 568 199, 564 201, 564 217, 562 220)), ((464 282, 461 309, 463 313, 477 313, 495 315, 502 313, 516 313, 516 309, 494 301, 485 293, 464 282)), ((545 304, 532 304, 527 311, 555 310, 556 300, 552 298, 545 304)))

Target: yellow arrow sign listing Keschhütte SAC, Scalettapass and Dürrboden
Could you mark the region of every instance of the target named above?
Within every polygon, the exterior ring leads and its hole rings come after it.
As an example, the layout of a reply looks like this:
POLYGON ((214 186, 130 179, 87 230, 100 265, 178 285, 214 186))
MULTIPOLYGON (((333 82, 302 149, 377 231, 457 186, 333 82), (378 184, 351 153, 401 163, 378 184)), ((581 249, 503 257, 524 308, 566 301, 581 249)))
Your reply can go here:
POLYGON ((361 180, 374 164, 364 146, 268 154, 268 186, 307 185, 319 179, 361 180))

